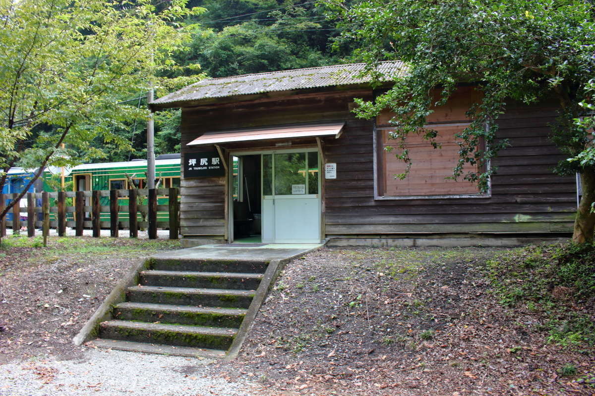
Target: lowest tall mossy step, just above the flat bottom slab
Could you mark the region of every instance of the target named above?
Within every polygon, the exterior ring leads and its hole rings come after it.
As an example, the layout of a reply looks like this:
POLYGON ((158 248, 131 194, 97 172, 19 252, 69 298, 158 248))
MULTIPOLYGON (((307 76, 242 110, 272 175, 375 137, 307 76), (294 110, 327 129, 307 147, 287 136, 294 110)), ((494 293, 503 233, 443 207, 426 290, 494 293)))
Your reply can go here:
POLYGON ((237 329, 112 320, 99 325, 99 338, 227 350, 237 329))

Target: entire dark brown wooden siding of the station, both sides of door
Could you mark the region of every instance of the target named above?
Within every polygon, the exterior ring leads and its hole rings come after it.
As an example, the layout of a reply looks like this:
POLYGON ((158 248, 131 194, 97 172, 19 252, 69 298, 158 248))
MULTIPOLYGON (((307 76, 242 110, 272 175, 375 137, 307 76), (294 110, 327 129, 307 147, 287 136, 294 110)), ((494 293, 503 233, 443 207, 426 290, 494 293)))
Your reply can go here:
MULTIPOLYGON (((353 97, 371 98, 372 91, 278 97, 255 102, 185 108, 182 113, 182 161, 187 147, 203 132, 298 122, 345 121, 339 139, 324 139, 327 162, 337 163, 337 179, 324 180, 324 229, 327 237, 365 237, 453 233, 570 232, 574 219, 574 178, 552 174, 563 159, 547 140, 555 109, 511 106, 499 119, 499 138, 511 147, 492 163, 498 173, 488 198, 374 199, 374 121, 356 119, 353 97)), ((227 144, 223 148, 316 147, 314 139, 227 144)), ((223 239, 226 235, 225 178, 181 180, 181 233, 186 237, 223 239)))

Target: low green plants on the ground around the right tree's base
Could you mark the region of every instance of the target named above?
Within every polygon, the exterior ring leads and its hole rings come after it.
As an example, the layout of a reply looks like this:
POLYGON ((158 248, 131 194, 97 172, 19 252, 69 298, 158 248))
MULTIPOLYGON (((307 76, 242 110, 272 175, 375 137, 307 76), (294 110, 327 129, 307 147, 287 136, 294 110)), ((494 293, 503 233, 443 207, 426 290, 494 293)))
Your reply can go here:
POLYGON ((592 244, 530 246, 491 259, 487 270, 501 303, 540 313, 550 342, 578 346, 595 344, 585 312, 595 303, 594 263, 592 244))

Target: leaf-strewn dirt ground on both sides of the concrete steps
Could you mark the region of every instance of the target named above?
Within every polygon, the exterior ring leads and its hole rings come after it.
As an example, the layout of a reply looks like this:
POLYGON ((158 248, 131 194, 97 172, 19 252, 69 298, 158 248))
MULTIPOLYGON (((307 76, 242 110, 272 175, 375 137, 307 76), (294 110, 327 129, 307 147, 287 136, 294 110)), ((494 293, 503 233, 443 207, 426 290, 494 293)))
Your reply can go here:
MULTIPOLYGON (((99 241, 0 250, 0 364, 79 357, 72 337, 133 259, 179 248, 99 241)), ((246 379, 259 395, 594 395, 593 349, 547 343, 543 318, 490 293, 481 268, 499 252, 312 252, 287 265, 238 359, 185 373, 246 379)))

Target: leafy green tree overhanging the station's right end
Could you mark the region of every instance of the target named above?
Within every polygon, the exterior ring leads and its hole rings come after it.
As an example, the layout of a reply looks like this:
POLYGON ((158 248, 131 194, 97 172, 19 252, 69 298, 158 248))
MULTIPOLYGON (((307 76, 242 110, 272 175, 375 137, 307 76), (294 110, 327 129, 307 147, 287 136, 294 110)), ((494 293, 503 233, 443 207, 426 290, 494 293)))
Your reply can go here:
MULTIPOLYGON (((356 43, 356 59, 369 66, 400 59, 409 67, 375 102, 359 102, 359 116, 372 117, 389 107, 397 137, 424 129, 434 104, 442 104, 462 81, 482 90, 483 100, 469 109, 471 126, 459 135, 460 160, 453 176, 478 182, 485 191, 488 172, 464 172, 465 164, 483 164, 506 146, 495 140, 498 118, 507 100, 525 103, 555 99, 560 115, 552 141, 568 156, 560 174, 580 173, 583 198, 575 220, 575 242, 592 242, 595 231, 595 8, 589 0, 341 0, 324 4, 339 17, 342 40, 356 43), (440 88, 439 99, 432 92, 440 88), (586 117, 586 118, 585 118, 586 117), (488 125, 485 128, 484 125, 488 125), (477 150, 478 142, 487 142, 477 150)), ((369 70, 372 68, 370 67, 369 70)), ((404 147, 401 145, 401 147, 404 147)), ((406 151, 402 158, 408 161, 406 151)), ((481 169, 481 167, 479 168, 481 169)))

